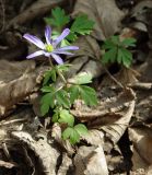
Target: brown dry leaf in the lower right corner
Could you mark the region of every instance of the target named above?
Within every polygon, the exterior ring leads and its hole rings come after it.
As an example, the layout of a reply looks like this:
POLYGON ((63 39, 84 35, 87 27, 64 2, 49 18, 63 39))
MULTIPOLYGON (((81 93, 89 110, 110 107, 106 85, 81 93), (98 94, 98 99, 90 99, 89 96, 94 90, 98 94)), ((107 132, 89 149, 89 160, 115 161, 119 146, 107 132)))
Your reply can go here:
POLYGON ((132 141, 133 170, 143 168, 150 172, 150 166, 152 166, 152 129, 145 126, 129 128, 129 138, 132 141))

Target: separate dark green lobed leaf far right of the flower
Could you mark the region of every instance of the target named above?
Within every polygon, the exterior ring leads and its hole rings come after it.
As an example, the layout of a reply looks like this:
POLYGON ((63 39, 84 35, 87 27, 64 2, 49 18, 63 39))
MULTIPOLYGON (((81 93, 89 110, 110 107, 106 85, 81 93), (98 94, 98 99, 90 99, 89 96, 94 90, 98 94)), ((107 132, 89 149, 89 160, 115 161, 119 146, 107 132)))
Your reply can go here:
POLYGON ((135 38, 124 38, 120 40, 119 36, 112 36, 104 42, 103 49, 105 54, 102 57, 103 63, 118 62, 127 68, 130 67, 132 61, 132 54, 128 49, 136 46, 135 38))

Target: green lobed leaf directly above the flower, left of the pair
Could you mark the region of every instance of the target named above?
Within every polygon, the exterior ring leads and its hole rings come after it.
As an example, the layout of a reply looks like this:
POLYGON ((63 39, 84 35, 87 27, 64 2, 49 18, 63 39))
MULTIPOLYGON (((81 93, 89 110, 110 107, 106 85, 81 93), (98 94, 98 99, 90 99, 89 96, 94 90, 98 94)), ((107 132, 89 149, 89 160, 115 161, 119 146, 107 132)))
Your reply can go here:
POLYGON ((70 18, 66 15, 65 10, 60 8, 56 8, 51 11, 52 18, 45 18, 45 22, 48 25, 52 25, 61 30, 66 24, 69 23, 70 18))

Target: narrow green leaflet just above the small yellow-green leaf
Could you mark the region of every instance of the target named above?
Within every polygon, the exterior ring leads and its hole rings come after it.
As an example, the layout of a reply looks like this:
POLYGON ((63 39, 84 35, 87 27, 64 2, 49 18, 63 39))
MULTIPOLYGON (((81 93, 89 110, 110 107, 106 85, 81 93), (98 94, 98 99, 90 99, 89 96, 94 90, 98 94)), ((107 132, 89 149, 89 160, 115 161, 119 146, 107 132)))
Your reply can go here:
POLYGON ((57 104, 59 106, 63 106, 65 108, 69 108, 71 105, 70 101, 69 101, 68 93, 65 90, 57 91, 56 100, 57 100, 57 104))

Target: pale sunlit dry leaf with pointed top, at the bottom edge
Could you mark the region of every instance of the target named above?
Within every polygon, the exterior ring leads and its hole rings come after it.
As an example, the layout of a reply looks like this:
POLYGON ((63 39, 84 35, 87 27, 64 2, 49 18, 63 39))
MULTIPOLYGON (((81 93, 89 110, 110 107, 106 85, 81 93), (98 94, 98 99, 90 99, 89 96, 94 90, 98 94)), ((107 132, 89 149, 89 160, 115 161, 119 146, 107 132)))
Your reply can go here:
POLYGON ((102 145, 80 147, 74 158, 75 175, 108 175, 102 145))

